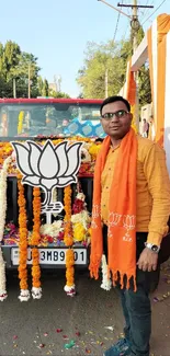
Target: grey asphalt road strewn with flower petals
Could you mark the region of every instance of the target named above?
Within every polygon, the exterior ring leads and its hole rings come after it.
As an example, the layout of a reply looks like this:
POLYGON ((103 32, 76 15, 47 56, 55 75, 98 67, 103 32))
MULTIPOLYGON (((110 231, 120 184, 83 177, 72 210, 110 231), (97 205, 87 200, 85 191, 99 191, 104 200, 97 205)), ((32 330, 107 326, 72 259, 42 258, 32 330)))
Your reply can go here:
MULTIPOLYGON (((64 272, 43 272, 43 298, 20 302, 16 275, 8 276, 9 297, 0 303, 0 356, 102 356, 121 334, 123 317, 117 294, 100 288, 88 274, 77 274, 78 295, 67 297, 64 272), (107 329, 109 326, 109 329, 107 329), (113 329, 113 330, 112 330, 113 329), (65 344, 72 348, 66 349, 65 344)), ((152 300, 151 355, 170 356, 170 266, 165 266, 152 300)))

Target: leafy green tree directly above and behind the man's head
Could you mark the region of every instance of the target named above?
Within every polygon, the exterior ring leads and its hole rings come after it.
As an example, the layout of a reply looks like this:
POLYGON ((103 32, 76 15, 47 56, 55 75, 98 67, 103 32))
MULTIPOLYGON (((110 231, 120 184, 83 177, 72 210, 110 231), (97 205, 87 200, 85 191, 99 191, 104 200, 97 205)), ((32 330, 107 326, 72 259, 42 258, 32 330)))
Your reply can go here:
POLYGON ((125 80, 129 53, 129 42, 115 44, 110 41, 101 45, 88 43, 84 65, 79 70, 77 78, 83 97, 104 97, 106 70, 109 72, 109 95, 117 94, 125 80))

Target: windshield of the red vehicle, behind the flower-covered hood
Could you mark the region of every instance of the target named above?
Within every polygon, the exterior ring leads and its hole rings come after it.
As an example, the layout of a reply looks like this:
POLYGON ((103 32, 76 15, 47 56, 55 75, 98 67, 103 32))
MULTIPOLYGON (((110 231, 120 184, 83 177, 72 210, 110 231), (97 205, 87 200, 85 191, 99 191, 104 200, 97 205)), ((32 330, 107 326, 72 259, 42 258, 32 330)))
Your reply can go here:
POLYGON ((99 103, 0 104, 0 137, 86 136, 89 123, 100 124, 99 103))

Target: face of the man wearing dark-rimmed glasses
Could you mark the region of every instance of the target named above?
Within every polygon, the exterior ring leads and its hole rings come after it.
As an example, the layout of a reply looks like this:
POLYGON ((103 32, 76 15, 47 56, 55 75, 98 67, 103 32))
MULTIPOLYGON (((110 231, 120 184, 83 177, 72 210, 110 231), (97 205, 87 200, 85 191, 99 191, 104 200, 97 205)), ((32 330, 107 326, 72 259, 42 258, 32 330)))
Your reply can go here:
POLYGON ((133 115, 127 113, 127 107, 123 102, 117 101, 104 105, 102 108, 102 116, 103 115, 105 115, 105 117, 101 117, 101 124, 106 135, 114 139, 122 139, 129 131, 133 115), (113 115, 113 117, 110 118, 106 117, 106 114, 114 113, 117 113, 117 115, 113 115))

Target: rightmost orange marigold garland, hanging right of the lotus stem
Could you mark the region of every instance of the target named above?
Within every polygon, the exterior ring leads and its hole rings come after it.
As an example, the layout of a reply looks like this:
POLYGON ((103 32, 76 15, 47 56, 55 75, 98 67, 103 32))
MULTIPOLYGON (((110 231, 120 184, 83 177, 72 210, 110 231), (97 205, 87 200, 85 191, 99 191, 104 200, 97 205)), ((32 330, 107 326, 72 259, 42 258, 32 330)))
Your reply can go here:
MULTIPOLYGON (((71 186, 70 185, 65 187, 64 206, 65 206, 64 242, 65 242, 66 246, 70 248, 73 244, 72 225, 71 225, 71 186)), ((75 265, 73 250, 68 249, 67 252, 66 252, 66 286, 65 286, 65 291, 70 297, 75 296, 75 294, 76 294, 73 265, 75 265)))

